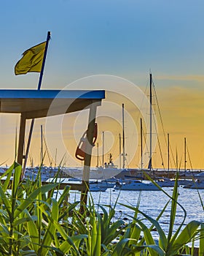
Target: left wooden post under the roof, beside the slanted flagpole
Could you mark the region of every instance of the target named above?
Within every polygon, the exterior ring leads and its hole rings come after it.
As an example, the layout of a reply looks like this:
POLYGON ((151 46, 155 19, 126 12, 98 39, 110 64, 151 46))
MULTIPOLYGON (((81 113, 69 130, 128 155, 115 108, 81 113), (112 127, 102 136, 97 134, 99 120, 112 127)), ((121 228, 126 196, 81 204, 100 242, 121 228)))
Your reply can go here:
POLYGON ((23 113, 21 113, 18 150, 17 150, 17 162, 21 166, 23 165, 23 147, 24 147, 25 130, 26 130, 26 116, 23 113))

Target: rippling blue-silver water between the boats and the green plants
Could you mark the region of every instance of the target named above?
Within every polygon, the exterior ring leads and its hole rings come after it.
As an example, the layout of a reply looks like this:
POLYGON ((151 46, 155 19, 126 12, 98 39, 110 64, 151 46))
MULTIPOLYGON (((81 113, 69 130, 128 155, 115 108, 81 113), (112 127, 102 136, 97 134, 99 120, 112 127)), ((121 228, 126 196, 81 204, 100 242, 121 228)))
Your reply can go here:
MULTIPOLYGON (((173 188, 166 187, 164 188, 165 192, 168 192, 168 195, 172 195, 173 188)), ((204 203, 204 189, 200 189, 200 196, 204 203)), ((114 189, 107 189, 106 192, 91 192, 93 197, 94 203, 101 203, 101 204, 111 204, 117 200, 119 196, 119 203, 124 203, 128 206, 137 206, 139 195, 141 194, 141 202, 139 209, 143 211, 145 214, 149 215, 153 219, 156 219, 157 216, 160 214, 162 209, 164 208, 165 204, 168 202, 169 197, 165 195, 162 191, 125 191, 114 189)), ((79 200, 80 194, 79 192, 71 192, 70 200, 73 202, 74 200, 79 200)), ((200 203, 199 196, 197 194, 196 189, 184 189, 183 187, 179 187, 179 195, 178 195, 178 202, 185 208, 187 211, 187 218, 184 224, 189 223, 192 220, 198 220, 200 222, 204 222, 204 211, 200 203)), ((120 206, 117 203, 116 206, 116 219, 124 219, 127 218, 131 220, 131 217, 128 215, 133 216, 133 211, 129 208, 125 208, 120 206)), ((142 217, 141 217, 142 218, 142 217)), ((178 225, 184 219, 184 211, 180 206, 177 208, 176 212, 176 223, 175 223, 175 230, 178 228, 178 225)), ((165 212, 162 214, 160 218, 160 225, 165 233, 168 233, 168 223, 170 220, 170 204, 166 208, 165 212)), ((150 226, 148 221, 145 222, 146 225, 150 226)), ((154 234, 154 237, 157 237, 157 233, 154 234)))

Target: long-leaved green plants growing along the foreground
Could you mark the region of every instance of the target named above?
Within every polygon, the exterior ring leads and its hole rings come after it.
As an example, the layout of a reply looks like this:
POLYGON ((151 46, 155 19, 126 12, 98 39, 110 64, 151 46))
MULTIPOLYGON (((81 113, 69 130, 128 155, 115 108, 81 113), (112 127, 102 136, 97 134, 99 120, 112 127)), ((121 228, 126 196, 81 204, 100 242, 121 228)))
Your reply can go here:
MULTIPOLYGON (((177 184, 173 195, 168 195, 171 210, 166 236, 159 220, 168 203, 157 219, 139 209, 140 199, 136 207, 123 205, 134 211, 132 221, 127 223, 115 219, 118 201, 114 206, 96 205, 90 196, 81 213, 79 201, 68 202, 70 187, 60 193, 55 179, 42 186, 40 173, 34 181, 20 181, 20 173, 21 166, 14 162, 3 175, 7 177, 4 183, 0 181, 0 255, 189 255, 187 244, 195 239, 200 239, 203 255, 203 223, 193 220, 184 227, 183 221, 173 232, 177 184), (147 227, 138 214, 151 226, 147 227), (152 236, 153 228, 159 234, 158 243, 152 236)), ((184 210, 184 219, 185 214, 184 210)))

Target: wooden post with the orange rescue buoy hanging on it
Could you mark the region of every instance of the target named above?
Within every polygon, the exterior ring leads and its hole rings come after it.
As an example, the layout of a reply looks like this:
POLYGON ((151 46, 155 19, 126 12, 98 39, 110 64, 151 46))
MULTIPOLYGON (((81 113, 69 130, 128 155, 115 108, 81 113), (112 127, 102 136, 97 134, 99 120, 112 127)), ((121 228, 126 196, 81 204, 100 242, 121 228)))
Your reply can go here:
POLYGON ((92 154, 92 148, 93 148, 93 133, 95 129, 95 115, 96 115, 96 109, 97 109, 97 102, 93 102, 90 105, 90 113, 89 113, 89 122, 88 122, 88 128, 87 128, 87 143, 85 148, 85 164, 84 164, 84 170, 83 170, 83 178, 82 178, 82 186, 85 188, 82 188, 81 191, 81 206, 80 206, 80 212, 84 213, 85 211, 85 205, 87 204, 87 192, 89 189, 89 178, 90 178, 90 162, 91 162, 91 154, 92 154))

